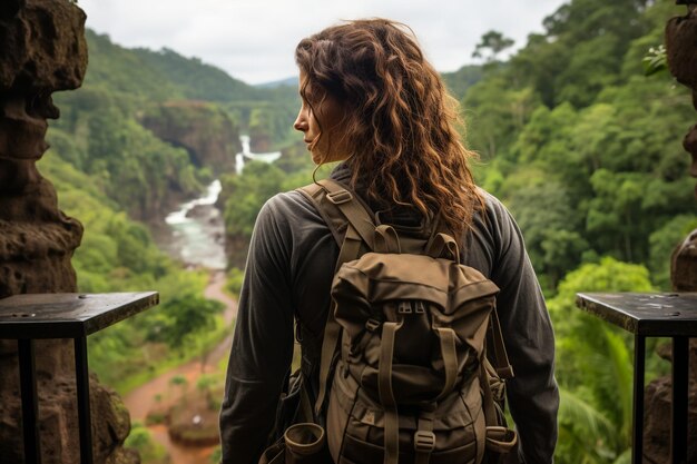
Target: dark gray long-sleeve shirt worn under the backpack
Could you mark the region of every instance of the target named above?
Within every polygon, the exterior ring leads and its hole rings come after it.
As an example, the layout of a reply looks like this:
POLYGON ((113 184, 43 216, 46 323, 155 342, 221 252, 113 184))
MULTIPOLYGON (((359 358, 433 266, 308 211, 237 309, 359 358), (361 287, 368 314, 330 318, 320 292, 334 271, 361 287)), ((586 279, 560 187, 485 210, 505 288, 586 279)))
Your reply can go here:
MULTIPOLYGON (((332 177, 345 181, 347 172, 332 177)), ((497 306, 516 373, 507 383, 508 405, 521 458, 551 463, 559 392, 549 315, 518 226, 499 200, 483 195, 485 218, 475 217, 463 263, 501 289, 497 306)), ((276 195, 259 211, 220 411, 224 464, 258 461, 291 365, 294 317, 322 338, 337 255, 328 227, 300 192, 276 195)))

